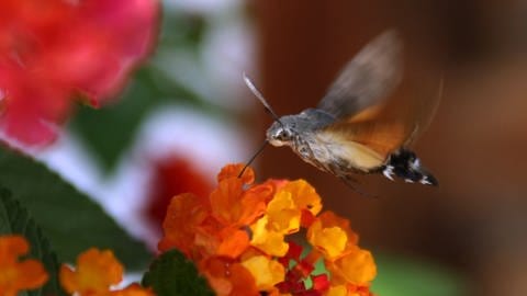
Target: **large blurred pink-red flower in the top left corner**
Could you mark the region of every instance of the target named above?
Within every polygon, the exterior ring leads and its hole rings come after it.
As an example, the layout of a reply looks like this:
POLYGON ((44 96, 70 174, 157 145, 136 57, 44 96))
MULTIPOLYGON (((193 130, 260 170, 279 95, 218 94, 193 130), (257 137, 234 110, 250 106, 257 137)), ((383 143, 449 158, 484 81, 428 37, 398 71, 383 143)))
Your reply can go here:
POLYGON ((114 95, 156 33, 156 0, 2 0, 0 125, 45 144, 75 95, 97 106, 114 95))

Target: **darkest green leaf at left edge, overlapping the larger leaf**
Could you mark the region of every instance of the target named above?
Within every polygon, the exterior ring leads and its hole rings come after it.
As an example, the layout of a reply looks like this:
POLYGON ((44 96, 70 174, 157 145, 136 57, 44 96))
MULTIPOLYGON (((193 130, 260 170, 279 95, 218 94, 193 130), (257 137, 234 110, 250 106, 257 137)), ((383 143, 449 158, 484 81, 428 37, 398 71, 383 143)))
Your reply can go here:
POLYGON ((0 189, 0 236, 21 235, 25 237, 31 246, 29 258, 41 261, 49 275, 49 280, 43 287, 19 293, 19 296, 66 295, 58 283, 59 265, 48 240, 30 217, 27 210, 10 195, 8 190, 0 189))

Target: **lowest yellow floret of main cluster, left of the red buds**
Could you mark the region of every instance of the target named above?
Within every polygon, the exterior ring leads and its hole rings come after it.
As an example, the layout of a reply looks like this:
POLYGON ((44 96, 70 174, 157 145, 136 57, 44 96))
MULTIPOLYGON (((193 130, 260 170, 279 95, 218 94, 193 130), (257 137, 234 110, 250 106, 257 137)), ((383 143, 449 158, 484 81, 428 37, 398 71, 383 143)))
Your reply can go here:
POLYGON ((283 281, 285 271, 279 262, 269 260, 265 255, 256 255, 242 262, 255 277, 256 286, 259 291, 268 291, 283 281))

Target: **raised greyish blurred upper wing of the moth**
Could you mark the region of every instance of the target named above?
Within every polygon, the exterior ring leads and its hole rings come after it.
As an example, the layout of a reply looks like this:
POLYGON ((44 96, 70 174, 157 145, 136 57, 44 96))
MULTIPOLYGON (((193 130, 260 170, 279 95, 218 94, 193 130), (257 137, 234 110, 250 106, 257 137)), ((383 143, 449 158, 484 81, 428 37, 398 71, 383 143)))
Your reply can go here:
POLYGON ((401 80, 402 48, 395 31, 371 41, 345 66, 317 109, 338 121, 380 103, 401 80))

